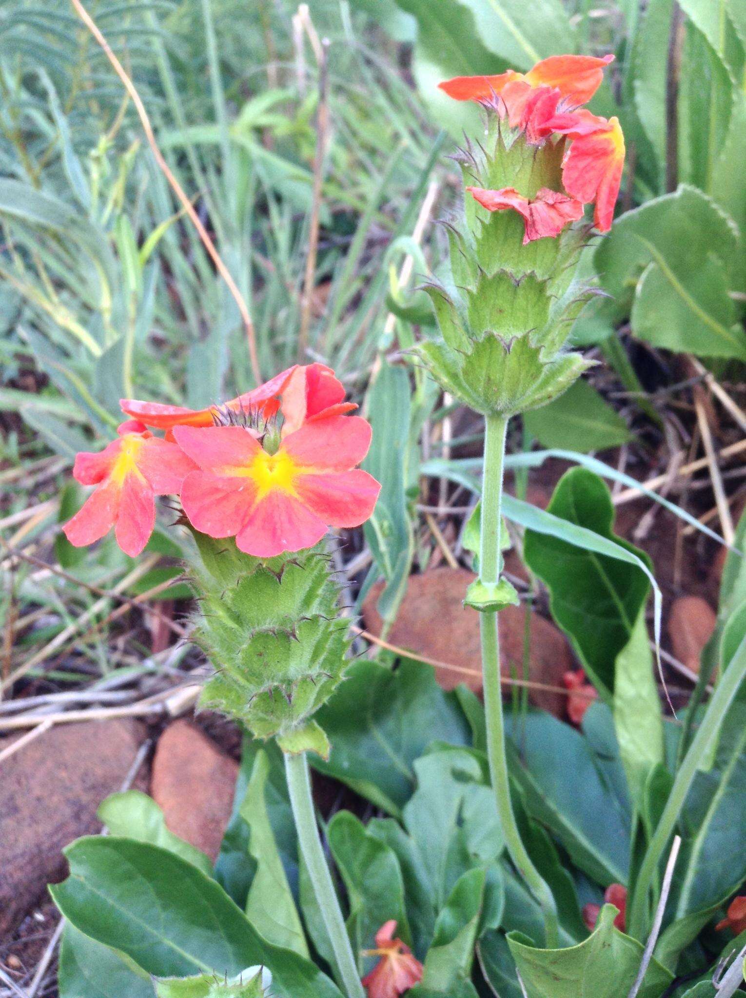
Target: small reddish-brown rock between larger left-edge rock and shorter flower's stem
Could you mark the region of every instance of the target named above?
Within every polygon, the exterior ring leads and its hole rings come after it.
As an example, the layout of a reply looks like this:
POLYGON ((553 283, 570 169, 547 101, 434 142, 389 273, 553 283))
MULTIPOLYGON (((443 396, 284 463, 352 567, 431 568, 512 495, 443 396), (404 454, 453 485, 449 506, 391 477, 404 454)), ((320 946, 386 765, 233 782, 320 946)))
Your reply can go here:
POLYGON ((158 742, 151 793, 166 824, 215 860, 233 807, 238 762, 190 721, 175 721, 158 742))

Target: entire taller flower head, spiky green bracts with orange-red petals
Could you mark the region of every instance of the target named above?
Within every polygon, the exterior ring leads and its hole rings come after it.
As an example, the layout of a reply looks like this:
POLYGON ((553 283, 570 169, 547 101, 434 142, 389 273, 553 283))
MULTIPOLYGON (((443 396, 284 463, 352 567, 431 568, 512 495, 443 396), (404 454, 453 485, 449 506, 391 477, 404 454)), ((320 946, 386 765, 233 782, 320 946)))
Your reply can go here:
POLYGON ((624 160, 615 119, 580 105, 611 57, 554 56, 528 73, 440 84, 487 115, 458 157, 466 197, 446 223, 450 274, 425 287, 437 333, 415 347, 432 377, 484 416, 545 405, 591 365, 565 350, 588 288, 573 281, 591 227, 611 226, 624 160))

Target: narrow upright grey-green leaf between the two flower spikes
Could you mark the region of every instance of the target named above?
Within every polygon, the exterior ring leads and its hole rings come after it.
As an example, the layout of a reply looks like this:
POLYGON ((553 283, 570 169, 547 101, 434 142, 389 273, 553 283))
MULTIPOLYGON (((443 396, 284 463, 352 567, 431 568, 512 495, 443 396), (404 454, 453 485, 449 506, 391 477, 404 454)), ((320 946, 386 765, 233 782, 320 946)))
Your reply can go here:
POLYGON ((414 554, 406 505, 411 419, 407 370, 384 362, 368 392, 367 404, 373 443, 363 466, 380 482, 380 495, 365 533, 386 583, 378 612, 384 621, 392 621, 406 590, 414 554))

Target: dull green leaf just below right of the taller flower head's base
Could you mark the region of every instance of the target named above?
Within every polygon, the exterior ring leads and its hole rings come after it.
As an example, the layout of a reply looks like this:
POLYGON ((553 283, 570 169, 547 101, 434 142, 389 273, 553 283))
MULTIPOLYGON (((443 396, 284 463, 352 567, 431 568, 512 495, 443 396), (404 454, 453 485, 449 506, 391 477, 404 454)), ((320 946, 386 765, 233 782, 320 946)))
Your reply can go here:
POLYGON ((542 447, 604 450, 631 439, 622 417, 582 378, 564 394, 523 416, 523 425, 542 447))

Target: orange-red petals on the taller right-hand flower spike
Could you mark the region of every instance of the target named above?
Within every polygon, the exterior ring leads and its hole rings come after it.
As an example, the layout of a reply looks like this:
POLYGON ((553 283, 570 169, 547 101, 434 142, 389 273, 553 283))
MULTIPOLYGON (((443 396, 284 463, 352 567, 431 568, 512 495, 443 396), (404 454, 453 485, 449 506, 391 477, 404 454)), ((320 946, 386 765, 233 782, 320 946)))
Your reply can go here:
POLYGON ((498 76, 456 77, 440 84, 449 97, 477 101, 506 119, 510 128, 539 147, 554 137, 569 144, 562 159, 563 192, 542 188, 529 198, 507 187, 498 191, 469 187, 490 212, 512 209, 524 220, 524 243, 556 236, 568 222, 595 204, 600 232, 611 228, 624 165, 624 137, 616 118, 606 119, 580 107, 596 92, 613 56, 551 56, 528 73, 508 70, 498 76))

